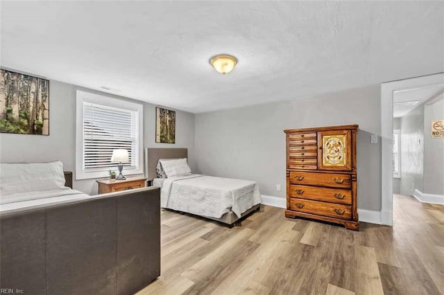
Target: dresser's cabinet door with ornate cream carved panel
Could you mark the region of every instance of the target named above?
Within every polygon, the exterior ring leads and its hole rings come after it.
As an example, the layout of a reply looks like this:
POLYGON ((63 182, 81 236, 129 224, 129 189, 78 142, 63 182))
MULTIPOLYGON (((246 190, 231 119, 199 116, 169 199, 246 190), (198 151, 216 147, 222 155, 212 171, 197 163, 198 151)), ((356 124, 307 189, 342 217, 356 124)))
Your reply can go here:
POLYGON ((352 132, 318 132, 318 169, 352 170, 352 132))

